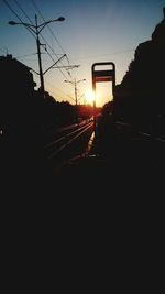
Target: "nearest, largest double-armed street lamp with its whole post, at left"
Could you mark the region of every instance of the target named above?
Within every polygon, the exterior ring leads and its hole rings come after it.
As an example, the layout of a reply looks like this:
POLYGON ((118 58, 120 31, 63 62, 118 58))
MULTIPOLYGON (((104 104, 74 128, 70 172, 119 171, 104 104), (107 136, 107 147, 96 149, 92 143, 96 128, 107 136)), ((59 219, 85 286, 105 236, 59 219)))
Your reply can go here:
POLYGON ((32 33, 35 34, 36 36, 36 47, 37 47, 37 57, 38 57, 38 69, 40 69, 40 81, 41 81, 41 94, 42 97, 45 97, 45 87, 44 87, 44 75, 43 75, 43 69, 42 69, 42 59, 41 59, 41 42, 40 42, 40 33, 41 31, 46 26, 46 24, 55 21, 64 21, 65 18, 59 17, 58 19, 46 21, 44 23, 37 24, 37 15, 35 14, 35 24, 31 23, 25 23, 25 22, 14 22, 14 21, 9 21, 8 23, 10 25, 16 25, 16 24, 23 24, 25 28, 28 28, 32 33))

